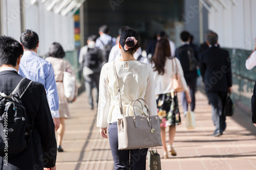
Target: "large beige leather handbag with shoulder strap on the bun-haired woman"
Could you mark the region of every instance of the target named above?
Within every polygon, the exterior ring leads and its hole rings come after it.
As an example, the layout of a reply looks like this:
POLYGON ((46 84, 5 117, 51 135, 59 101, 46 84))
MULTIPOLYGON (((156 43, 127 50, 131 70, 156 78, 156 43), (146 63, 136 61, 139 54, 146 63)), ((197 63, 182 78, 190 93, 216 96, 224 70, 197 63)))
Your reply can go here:
POLYGON ((144 99, 138 98, 132 100, 129 104, 127 112, 129 112, 129 108, 132 106, 134 115, 124 116, 115 62, 114 72, 117 82, 117 91, 119 94, 120 114, 123 116, 123 118, 120 118, 117 121, 118 150, 162 146, 159 116, 150 115, 150 108, 144 99), (135 113, 134 106, 136 102, 141 104, 141 115, 136 115, 137 113, 135 113), (143 106, 146 107, 148 115, 143 115, 143 106))

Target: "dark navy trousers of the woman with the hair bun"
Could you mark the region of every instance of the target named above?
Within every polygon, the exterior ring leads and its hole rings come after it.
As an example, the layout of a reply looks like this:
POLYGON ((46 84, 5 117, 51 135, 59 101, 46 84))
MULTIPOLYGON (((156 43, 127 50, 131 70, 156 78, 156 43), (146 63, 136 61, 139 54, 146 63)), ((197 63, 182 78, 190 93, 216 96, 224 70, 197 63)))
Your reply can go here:
POLYGON ((118 150, 117 122, 109 125, 109 140, 115 169, 146 169, 147 148, 136 150, 118 150))

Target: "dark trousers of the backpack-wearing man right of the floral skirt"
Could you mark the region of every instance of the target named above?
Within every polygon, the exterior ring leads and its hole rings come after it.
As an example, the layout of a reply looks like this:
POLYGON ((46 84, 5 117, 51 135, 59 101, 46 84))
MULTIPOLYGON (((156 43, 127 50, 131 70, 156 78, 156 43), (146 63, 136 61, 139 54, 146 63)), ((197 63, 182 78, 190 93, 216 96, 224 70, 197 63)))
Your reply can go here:
MULTIPOLYGON (((191 97, 190 109, 191 111, 194 111, 196 107, 195 93, 197 89, 197 78, 186 79, 186 83, 187 83, 187 86, 189 87, 189 93, 191 97)), ((181 92, 181 100, 182 100, 183 111, 185 112, 187 111, 187 107, 188 107, 185 91, 181 92)))

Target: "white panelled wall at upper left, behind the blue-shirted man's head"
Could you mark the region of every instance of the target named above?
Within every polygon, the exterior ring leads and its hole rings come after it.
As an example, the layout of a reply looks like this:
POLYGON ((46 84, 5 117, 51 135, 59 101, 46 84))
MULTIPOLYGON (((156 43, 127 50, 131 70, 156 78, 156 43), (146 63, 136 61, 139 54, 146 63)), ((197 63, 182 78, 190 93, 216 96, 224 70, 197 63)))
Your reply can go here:
MULTIPOLYGON (((19 41, 21 28, 20 0, 0 0, 3 3, 3 35, 14 37, 19 41)), ((37 1, 31 5, 25 0, 25 29, 35 31, 39 36, 38 54, 44 55, 49 51, 53 42, 59 42, 65 51, 75 50, 74 46, 74 19, 73 15, 55 14, 47 11, 52 1, 41 4, 37 1)))

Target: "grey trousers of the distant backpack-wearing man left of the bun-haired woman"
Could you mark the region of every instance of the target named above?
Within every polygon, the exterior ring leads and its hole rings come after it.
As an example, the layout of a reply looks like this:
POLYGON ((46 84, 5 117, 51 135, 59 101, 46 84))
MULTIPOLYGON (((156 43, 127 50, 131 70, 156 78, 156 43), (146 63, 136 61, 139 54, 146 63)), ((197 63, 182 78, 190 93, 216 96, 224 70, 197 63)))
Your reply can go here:
POLYGON ((93 103, 93 94, 92 90, 94 85, 96 86, 96 102, 98 104, 99 101, 99 73, 91 74, 88 76, 84 76, 84 84, 86 86, 87 96, 88 96, 88 103, 91 107, 94 106, 93 103))

